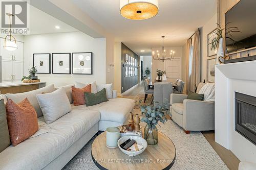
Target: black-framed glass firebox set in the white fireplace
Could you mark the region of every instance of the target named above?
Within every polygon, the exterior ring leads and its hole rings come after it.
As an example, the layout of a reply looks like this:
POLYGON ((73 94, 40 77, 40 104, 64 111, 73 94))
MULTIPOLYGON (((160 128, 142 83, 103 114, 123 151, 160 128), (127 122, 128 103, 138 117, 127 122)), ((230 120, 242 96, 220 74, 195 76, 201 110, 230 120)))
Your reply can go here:
POLYGON ((256 145, 256 97, 235 92, 236 131, 256 145))

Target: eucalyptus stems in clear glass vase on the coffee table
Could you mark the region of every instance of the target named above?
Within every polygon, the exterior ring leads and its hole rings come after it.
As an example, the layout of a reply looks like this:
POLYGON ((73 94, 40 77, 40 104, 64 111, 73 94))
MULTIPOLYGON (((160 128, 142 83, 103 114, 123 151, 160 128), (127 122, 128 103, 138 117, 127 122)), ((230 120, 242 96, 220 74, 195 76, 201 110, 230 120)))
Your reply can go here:
MULTIPOLYGON (((160 106, 158 102, 155 105, 142 104, 142 100, 139 101, 142 114, 141 122, 145 122, 147 125, 144 128, 144 139, 149 145, 155 145, 158 142, 158 122, 165 123, 169 114, 169 104, 163 104, 160 106)), ((168 102, 165 102, 168 103, 168 102)), ((160 125, 159 125, 160 126, 160 125)))

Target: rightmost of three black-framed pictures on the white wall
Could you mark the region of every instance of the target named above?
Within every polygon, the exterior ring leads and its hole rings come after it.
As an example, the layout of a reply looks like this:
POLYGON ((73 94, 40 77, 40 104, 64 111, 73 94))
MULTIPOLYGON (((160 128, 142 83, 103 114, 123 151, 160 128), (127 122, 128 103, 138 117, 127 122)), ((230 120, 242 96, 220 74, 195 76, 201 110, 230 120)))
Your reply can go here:
POLYGON ((72 53, 73 75, 93 75, 93 53, 72 53))

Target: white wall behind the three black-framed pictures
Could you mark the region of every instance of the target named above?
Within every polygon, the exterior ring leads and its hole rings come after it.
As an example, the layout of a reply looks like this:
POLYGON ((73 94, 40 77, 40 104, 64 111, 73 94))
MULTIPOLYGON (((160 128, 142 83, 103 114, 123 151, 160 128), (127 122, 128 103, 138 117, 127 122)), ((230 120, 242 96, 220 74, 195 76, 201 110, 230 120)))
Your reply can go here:
POLYGON ((106 82, 106 40, 92 38, 81 32, 40 34, 24 36, 24 74, 33 66, 33 53, 93 53, 93 75, 58 75, 37 74, 41 81, 57 86, 72 84, 74 81, 92 82, 99 84, 106 82))

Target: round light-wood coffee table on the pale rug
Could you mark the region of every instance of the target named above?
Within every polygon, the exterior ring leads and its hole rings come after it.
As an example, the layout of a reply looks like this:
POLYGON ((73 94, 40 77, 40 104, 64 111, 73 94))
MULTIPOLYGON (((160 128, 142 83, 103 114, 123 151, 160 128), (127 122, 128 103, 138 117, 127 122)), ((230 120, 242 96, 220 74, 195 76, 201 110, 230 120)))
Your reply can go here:
POLYGON ((158 132, 158 143, 147 145, 146 150, 130 157, 119 148, 106 147, 106 132, 98 135, 92 144, 92 159, 99 169, 170 169, 176 158, 176 149, 172 140, 158 132))

